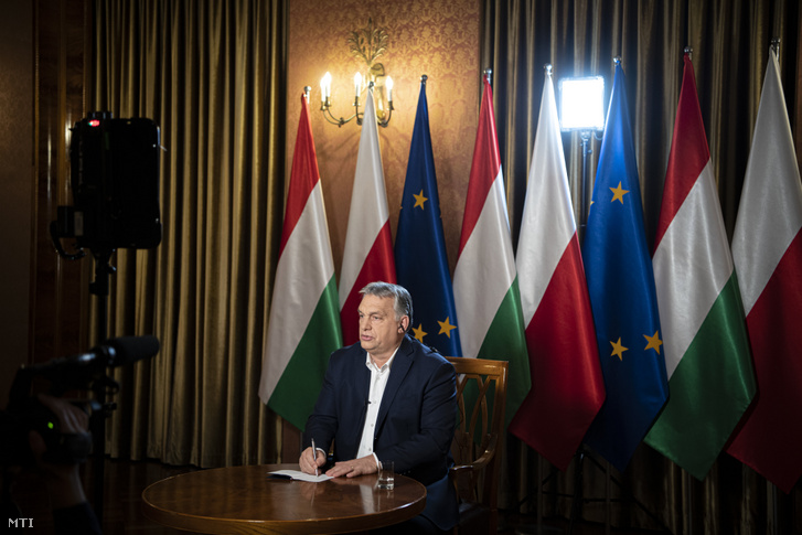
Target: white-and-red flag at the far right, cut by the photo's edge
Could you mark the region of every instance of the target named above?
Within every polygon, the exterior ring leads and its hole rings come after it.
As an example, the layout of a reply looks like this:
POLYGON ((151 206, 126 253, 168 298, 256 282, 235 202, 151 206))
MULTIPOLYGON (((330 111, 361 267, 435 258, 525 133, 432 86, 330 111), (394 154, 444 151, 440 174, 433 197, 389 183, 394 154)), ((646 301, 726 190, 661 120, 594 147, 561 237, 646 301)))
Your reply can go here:
POLYGON ((758 395, 727 452, 783 492, 802 474, 802 184, 777 56, 769 54, 733 256, 758 395))

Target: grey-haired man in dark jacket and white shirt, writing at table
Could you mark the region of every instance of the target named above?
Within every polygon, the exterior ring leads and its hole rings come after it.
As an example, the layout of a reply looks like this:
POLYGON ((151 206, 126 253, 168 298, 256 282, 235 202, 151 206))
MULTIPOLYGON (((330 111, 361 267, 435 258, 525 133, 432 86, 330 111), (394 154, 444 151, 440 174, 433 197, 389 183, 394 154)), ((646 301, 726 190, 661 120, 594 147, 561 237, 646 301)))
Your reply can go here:
POLYGON ((447 531, 458 520, 457 494, 448 479, 457 415, 457 376, 451 363, 408 336, 413 321, 409 292, 372 282, 361 290, 360 343, 332 353, 323 387, 307 421, 300 469, 328 475, 375 473, 382 460, 397 473, 426 485, 426 509, 417 529, 447 531))

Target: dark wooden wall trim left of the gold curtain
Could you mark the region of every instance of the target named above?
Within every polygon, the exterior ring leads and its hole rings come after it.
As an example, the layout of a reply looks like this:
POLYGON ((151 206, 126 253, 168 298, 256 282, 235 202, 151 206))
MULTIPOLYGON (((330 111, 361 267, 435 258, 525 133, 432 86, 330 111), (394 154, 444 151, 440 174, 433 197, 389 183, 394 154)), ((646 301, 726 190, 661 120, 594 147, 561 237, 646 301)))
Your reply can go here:
POLYGON ((65 260, 50 224, 71 204, 69 127, 86 113, 90 39, 88 0, 35 0, 34 191, 30 362, 77 353, 88 340, 92 259, 65 260))

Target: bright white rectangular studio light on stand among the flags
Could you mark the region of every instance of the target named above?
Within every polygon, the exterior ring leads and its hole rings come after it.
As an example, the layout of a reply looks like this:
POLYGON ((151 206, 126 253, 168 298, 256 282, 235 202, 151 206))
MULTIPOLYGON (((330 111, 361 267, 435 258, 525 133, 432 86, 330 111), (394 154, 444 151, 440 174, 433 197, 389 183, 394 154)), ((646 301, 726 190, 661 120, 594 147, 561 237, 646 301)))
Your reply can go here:
MULTIPOLYGON (((552 65, 546 65, 552 75, 552 65)), ((590 135, 605 129, 605 78, 601 76, 570 77, 559 81, 559 125, 563 131, 578 131, 582 140, 582 176, 579 210, 579 239, 585 237, 590 201, 588 154, 590 135)), ((601 139, 601 137, 597 137, 601 139)))

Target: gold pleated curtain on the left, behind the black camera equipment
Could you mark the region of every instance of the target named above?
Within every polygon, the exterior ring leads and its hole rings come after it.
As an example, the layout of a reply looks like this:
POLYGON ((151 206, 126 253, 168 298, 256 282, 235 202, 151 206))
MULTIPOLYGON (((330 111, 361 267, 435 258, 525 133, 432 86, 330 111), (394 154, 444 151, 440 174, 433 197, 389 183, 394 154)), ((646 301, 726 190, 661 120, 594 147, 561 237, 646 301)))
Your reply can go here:
POLYGON ((164 148, 162 243, 113 261, 108 334, 161 342, 116 370, 113 457, 280 454, 257 390, 284 205, 285 17, 285 0, 94 3, 90 107, 153 119, 164 148))

